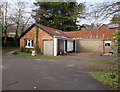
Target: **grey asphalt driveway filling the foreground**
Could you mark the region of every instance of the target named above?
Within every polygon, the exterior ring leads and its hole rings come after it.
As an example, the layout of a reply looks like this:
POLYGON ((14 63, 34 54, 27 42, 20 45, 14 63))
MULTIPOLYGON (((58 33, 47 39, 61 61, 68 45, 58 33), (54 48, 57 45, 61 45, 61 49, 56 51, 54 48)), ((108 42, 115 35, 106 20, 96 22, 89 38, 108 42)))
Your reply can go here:
POLYGON ((4 90, 111 90, 90 75, 98 71, 88 60, 103 56, 30 58, 3 55, 4 90))

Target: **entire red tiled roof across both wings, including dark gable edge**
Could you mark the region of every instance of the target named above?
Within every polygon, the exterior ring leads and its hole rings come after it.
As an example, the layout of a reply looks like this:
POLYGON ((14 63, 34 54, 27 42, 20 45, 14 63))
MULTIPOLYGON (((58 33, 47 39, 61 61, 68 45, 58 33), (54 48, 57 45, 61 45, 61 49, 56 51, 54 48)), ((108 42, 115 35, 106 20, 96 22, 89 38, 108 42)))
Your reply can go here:
POLYGON ((34 26, 39 27, 40 29, 42 29, 43 31, 45 31, 51 36, 63 36, 63 37, 70 37, 70 38, 111 38, 113 37, 113 34, 116 31, 116 29, 110 29, 103 25, 98 30, 95 30, 95 31, 86 30, 86 31, 63 32, 55 28, 46 27, 39 24, 33 24, 19 38, 24 36, 34 26))

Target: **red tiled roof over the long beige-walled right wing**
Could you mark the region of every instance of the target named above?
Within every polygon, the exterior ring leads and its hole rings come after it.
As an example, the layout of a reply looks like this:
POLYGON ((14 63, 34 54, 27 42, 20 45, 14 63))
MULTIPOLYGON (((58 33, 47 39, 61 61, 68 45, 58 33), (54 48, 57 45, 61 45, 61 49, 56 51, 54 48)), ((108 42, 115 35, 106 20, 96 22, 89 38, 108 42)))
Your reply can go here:
POLYGON ((115 33, 116 29, 99 29, 96 31, 71 31, 64 32, 73 38, 111 38, 115 33))

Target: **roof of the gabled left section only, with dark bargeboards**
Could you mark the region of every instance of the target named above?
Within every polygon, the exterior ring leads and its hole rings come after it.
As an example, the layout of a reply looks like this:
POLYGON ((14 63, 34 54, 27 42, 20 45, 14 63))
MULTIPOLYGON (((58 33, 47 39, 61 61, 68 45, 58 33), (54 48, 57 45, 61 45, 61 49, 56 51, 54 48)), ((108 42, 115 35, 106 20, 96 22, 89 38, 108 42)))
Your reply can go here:
POLYGON ((48 33, 51 36, 63 36, 63 37, 70 37, 67 34, 65 34, 63 31, 55 29, 55 28, 51 28, 51 27, 46 27, 43 25, 39 25, 39 24, 33 24, 31 25, 19 38, 23 37, 27 32, 29 32, 34 26, 37 26, 38 28, 42 29, 43 31, 45 31, 46 33, 48 33))

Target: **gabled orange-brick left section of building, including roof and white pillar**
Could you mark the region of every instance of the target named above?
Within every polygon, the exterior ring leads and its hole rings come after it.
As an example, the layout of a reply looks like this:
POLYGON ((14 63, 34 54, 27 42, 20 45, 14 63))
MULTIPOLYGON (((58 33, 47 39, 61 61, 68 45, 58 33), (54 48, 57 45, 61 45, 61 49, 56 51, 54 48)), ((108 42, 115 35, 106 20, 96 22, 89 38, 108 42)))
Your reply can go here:
POLYGON ((20 36, 20 48, 25 48, 32 52, 35 50, 36 40, 40 52, 43 55, 64 54, 67 52, 75 52, 75 39, 66 35, 63 31, 46 27, 39 24, 31 25, 20 36), (36 37, 36 30, 38 29, 38 39, 36 37))

